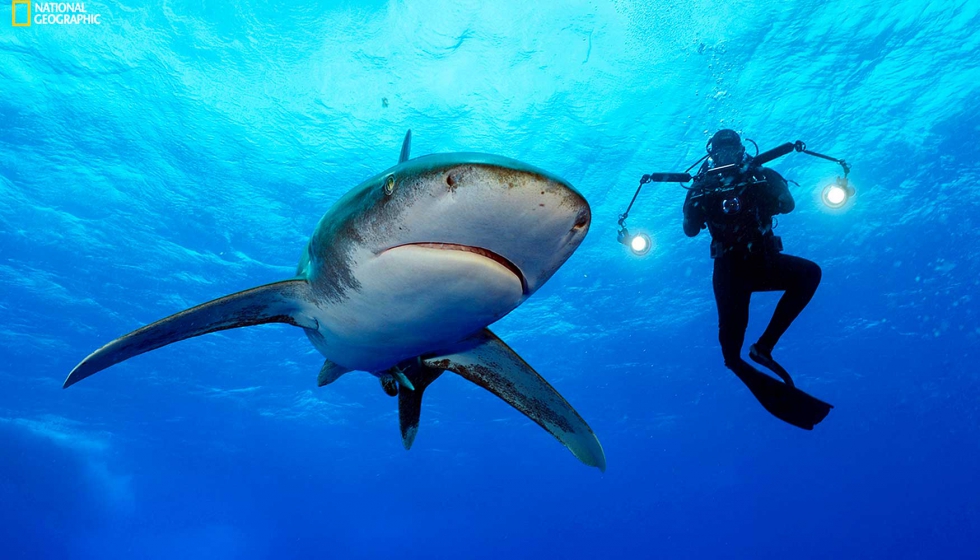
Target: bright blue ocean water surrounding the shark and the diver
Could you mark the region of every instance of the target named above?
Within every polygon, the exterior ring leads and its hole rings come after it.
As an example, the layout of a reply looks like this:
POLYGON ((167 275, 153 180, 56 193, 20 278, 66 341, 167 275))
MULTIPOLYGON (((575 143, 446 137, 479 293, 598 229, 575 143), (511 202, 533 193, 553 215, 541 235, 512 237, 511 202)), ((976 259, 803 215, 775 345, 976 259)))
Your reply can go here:
POLYGON ((0 558, 980 557, 980 3, 84 8, 100 24, 0 8, 0 558), (493 329, 605 474, 452 375, 406 452, 377 380, 317 389, 288 326, 61 389, 119 335, 291 277, 409 128, 413 155, 516 158, 591 203, 584 244, 493 329), (630 213, 649 255, 616 241, 639 177, 719 128, 853 165, 830 211, 833 163, 772 163, 798 183, 777 233, 823 269, 776 351, 836 407, 813 432, 724 368, 682 189, 630 213))

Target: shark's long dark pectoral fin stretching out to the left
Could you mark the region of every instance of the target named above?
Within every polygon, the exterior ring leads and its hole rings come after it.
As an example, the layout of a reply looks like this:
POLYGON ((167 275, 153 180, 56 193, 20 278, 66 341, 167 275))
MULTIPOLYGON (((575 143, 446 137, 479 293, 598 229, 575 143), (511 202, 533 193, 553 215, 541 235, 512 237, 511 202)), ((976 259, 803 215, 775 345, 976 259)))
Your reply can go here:
POLYGON ((65 387, 111 365, 173 342, 210 332, 264 323, 287 323, 316 329, 306 280, 286 280, 231 294, 181 311, 121 336, 82 360, 65 379, 65 387))

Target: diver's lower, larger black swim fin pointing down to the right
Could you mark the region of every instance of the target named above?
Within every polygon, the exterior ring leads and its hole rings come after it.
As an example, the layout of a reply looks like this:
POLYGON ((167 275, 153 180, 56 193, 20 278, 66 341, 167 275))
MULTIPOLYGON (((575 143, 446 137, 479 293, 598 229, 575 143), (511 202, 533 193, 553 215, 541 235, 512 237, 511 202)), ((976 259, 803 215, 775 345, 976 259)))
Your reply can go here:
POLYGON ((752 391, 763 408, 776 418, 798 428, 812 430, 834 408, 796 387, 776 381, 747 362, 743 361, 740 367, 733 368, 732 371, 752 391))

